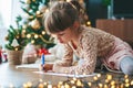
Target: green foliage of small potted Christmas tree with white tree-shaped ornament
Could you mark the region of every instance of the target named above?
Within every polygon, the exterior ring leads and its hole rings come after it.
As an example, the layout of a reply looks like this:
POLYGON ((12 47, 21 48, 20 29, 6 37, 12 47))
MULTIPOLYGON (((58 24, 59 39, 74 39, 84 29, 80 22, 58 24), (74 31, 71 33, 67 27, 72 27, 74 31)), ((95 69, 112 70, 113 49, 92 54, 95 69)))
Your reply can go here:
POLYGON ((6 36, 8 43, 6 44, 6 48, 10 51, 21 51, 27 44, 25 37, 22 34, 22 25, 20 25, 21 20, 22 18, 18 15, 16 20, 17 28, 10 25, 8 30, 8 35, 6 36))

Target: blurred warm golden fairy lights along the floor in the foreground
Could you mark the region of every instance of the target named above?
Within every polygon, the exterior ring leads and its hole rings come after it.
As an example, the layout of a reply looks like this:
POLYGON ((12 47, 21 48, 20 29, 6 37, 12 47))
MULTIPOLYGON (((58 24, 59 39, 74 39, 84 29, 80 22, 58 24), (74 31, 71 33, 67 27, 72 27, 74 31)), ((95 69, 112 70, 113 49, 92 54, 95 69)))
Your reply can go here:
MULTIPOLYGON (((16 87, 10 84, 9 88, 16 87)), ((86 78, 66 77, 65 80, 60 80, 54 85, 52 81, 39 79, 35 84, 33 81, 22 84, 22 88, 133 88, 133 77, 129 75, 98 74, 86 78)))

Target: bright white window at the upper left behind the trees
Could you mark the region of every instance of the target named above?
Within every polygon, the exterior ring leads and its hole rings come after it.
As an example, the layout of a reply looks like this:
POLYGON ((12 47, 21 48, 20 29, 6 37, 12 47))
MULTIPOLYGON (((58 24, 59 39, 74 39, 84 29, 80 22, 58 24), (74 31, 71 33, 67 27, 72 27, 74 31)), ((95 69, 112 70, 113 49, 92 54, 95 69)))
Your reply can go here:
POLYGON ((16 25, 16 16, 21 14, 19 0, 0 0, 0 45, 4 46, 9 25, 16 25))

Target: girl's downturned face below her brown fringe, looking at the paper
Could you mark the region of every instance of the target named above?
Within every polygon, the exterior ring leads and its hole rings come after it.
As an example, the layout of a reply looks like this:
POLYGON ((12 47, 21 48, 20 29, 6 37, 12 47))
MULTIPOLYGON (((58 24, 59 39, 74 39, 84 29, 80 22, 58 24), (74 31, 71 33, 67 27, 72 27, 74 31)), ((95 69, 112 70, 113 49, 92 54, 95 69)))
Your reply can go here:
POLYGON ((55 37, 60 43, 65 44, 65 43, 68 43, 68 42, 70 42, 70 41, 72 40, 73 34, 74 34, 73 29, 68 28, 68 29, 65 29, 64 31, 54 33, 54 34, 52 34, 52 35, 53 35, 53 37, 55 37))

